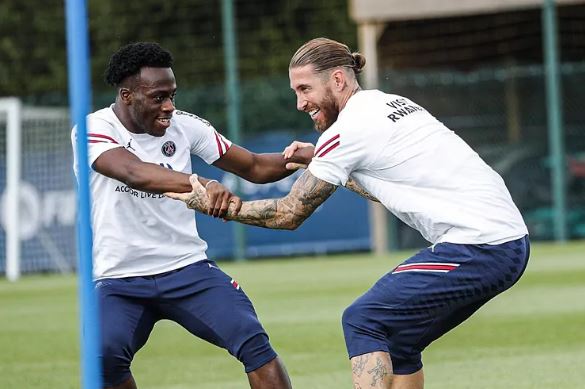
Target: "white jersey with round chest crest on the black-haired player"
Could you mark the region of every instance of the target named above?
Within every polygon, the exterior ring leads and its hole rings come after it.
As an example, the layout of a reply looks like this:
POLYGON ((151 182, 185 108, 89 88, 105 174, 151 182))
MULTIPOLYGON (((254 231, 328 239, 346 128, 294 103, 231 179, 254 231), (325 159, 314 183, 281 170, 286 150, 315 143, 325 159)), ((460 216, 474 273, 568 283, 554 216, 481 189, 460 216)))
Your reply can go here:
MULTIPOLYGON (((191 174, 191 154, 211 164, 231 146, 211 124, 175 111, 162 137, 129 132, 112 106, 87 117, 94 278, 159 274, 206 259, 193 212, 162 194, 129 188, 93 169, 104 152, 124 147, 144 162, 191 174)), ((77 176, 76 128, 71 133, 77 176)))

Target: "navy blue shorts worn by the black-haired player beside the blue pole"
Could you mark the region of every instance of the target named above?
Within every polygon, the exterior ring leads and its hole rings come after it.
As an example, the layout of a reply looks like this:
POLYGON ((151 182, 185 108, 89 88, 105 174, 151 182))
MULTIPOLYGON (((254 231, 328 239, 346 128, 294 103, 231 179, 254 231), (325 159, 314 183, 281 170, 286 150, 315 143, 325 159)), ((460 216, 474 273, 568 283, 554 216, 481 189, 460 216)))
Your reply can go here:
POLYGON ((276 358, 252 303, 213 261, 154 276, 101 279, 95 287, 106 387, 130 377, 134 354, 162 319, 226 349, 244 364, 246 372, 276 358))

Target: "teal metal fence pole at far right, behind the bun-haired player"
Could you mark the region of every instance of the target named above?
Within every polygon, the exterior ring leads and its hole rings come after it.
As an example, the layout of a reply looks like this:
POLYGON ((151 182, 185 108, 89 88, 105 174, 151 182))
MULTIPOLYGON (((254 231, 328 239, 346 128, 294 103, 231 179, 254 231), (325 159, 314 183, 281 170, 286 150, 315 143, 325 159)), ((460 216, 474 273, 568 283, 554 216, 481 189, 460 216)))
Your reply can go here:
POLYGON ((542 34, 544 40, 546 107, 548 135, 552 161, 551 183, 553 189, 555 240, 567 240, 567 188, 566 161, 563 131, 561 79, 559 74, 558 35, 554 0, 544 0, 542 10, 542 34))

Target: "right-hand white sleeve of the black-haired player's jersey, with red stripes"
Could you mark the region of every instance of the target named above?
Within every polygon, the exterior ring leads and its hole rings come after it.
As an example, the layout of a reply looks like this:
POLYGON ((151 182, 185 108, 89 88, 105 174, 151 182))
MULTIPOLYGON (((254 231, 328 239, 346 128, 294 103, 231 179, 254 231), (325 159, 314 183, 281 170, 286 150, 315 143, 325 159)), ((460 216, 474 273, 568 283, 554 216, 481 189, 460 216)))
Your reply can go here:
POLYGON ((176 118, 185 127, 189 138, 191 154, 197 155, 207 164, 221 158, 232 146, 207 120, 191 113, 176 111, 176 118))

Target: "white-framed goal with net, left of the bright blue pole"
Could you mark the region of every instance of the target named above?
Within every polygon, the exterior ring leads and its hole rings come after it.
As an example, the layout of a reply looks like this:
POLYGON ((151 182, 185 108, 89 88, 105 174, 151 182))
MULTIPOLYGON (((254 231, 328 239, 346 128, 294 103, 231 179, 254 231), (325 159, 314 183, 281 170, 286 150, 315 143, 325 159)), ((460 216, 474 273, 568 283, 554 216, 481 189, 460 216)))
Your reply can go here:
POLYGON ((0 271, 11 281, 76 267, 70 133, 66 108, 0 98, 0 271))

